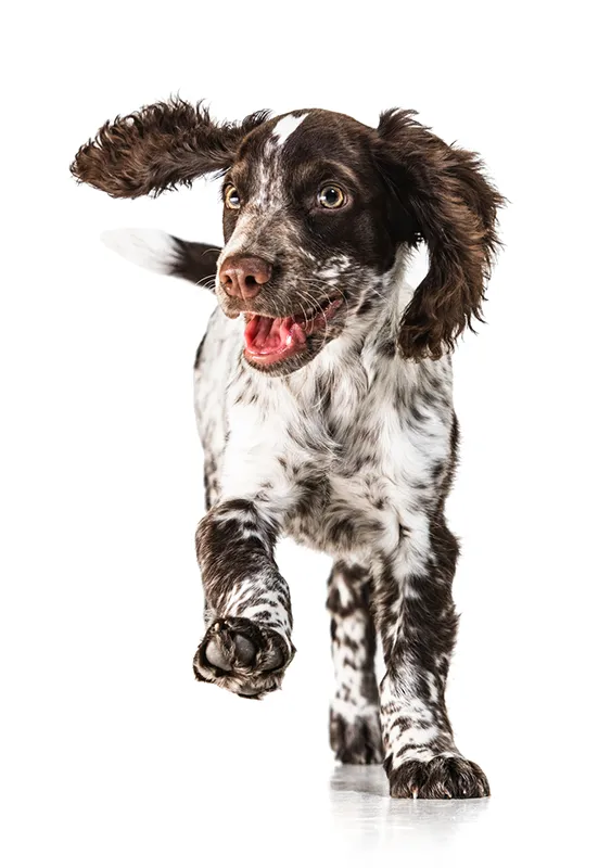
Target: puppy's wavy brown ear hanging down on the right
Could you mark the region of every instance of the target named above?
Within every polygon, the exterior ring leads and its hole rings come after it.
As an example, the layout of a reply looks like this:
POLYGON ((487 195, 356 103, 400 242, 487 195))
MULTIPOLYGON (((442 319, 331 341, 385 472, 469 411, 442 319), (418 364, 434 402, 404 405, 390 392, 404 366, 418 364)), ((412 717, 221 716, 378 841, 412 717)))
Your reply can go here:
POLYGON ((394 200, 395 240, 422 238, 429 248, 429 272, 403 314, 399 347, 407 358, 440 358, 482 319, 504 199, 476 154, 447 145, 415 114, 382 113, 375 156, 394 200))

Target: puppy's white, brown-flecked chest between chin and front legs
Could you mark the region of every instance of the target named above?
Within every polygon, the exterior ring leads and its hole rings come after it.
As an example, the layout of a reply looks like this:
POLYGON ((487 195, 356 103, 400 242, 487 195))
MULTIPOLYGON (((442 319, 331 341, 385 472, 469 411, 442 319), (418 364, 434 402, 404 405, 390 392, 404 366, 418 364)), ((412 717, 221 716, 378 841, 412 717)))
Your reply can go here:
POLYGON ((421 366, 334 365, 228 394, 222 494, 253 497, 287 534, 330 553, 390 547, 447 460, 449 379, 421 366), (424 378, 424 379, 423 379, 424 378))

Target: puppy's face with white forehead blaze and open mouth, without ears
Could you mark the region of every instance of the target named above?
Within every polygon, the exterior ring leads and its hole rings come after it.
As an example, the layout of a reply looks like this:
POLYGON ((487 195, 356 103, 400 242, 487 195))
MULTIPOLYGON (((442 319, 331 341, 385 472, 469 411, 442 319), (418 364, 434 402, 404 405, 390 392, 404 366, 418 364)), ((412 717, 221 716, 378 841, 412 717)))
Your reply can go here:
POLYGON ((225 176, 216 292, 228 316, 244 314, 244 357, 259 370, 309 362, 394 263, 369 132, 331 112, 284 115, 245 138, 225 176))

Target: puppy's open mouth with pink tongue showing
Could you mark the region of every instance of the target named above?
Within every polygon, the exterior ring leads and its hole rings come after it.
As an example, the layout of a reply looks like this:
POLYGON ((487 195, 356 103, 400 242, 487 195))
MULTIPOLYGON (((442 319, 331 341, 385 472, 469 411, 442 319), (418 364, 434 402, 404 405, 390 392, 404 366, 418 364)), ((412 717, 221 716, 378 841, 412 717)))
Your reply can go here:
POLYGON ((257 365, 273 365, 301 353, 307 346, 307 337, 324 331, 341 306, 341 298, 331 298, 316 310, 305 310, 290 317, 244 314, 244 355, 257 365))

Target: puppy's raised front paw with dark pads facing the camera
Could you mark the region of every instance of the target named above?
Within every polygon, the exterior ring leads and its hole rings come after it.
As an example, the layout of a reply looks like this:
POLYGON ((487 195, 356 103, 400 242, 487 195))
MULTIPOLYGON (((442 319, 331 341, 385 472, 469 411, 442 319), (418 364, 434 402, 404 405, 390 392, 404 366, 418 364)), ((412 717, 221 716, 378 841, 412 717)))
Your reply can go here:
POLYGON ((294 653, 269 627, 245 617, 218 618, 202 639, 193 672, 199 681, 260 699, 280 687, 294 653))

